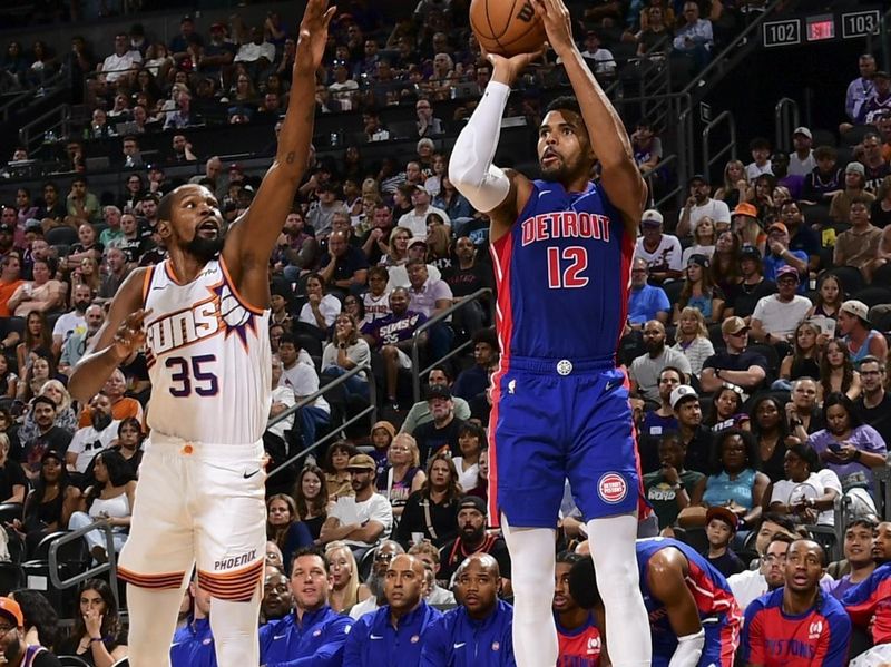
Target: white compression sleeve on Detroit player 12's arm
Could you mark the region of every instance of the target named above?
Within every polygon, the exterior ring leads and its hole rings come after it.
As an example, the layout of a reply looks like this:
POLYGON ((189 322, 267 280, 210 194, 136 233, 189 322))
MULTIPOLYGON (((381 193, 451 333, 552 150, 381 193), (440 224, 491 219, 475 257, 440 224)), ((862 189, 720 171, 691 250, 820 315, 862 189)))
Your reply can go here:
POLYGON ((507 175, 492 164, 509 95, 509 86, 489 81, 449 160, 449 179, 482 213, 492 210, 510 193, 507 175))

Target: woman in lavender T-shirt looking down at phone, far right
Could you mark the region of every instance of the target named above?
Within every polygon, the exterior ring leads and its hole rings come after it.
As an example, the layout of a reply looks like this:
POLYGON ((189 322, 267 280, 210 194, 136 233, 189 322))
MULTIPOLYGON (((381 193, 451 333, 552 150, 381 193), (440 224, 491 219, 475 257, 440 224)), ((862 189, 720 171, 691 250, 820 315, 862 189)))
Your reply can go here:
MULTIPOLYGON (((872 491, 872 469, 884 465, 887 445, 879 432, 864 424, 851 399, 833 392, 823 402, 826 428, 811 435, 807 444, 816 450, 826 468, 839 475, 842 491, 872 491)), ((873 508, 874 511, 874 508, 873 508)))

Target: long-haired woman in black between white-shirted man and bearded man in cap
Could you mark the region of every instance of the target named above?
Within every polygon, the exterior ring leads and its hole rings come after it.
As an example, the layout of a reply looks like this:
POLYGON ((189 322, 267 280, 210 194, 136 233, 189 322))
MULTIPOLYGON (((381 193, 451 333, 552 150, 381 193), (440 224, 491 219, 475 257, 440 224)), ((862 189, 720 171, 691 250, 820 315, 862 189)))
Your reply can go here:
POLYGON ((458 501, 461 494, 451 454, 431 457, 427 464, 427 480, 405 502, 396 540, 407 549, 422 539, 441 548, 458 534, 458 501))

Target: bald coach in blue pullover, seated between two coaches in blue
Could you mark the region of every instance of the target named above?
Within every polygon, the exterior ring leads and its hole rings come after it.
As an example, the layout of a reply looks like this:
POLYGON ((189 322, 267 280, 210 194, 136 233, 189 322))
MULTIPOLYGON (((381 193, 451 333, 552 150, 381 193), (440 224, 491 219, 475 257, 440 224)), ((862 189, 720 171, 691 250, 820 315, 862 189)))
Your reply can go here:
POLYGON ((424 565, 414 556, 396 556, 386 568, 386 605, 360 618, 343 651, 349 667, 417 667, 430 625, 442 614, 422 598, 424 565))

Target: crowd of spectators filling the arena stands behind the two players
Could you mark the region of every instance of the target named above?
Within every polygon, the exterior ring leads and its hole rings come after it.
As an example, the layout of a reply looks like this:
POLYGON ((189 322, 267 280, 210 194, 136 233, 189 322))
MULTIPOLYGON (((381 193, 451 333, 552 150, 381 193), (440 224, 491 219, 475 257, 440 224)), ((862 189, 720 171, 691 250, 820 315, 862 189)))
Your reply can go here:
MULTIPOLYGON (((639 55, 674 50, 701 68, 742 10, 757 10, 650 0, 619 12, 620 4, 578 12, 581 46, 600 77, 615 73, 609 49, 628 45, 639 55)), ((21 187, 0 209, 0 501, 22 503, 8 528, 13 560, 37 557, 57 531, 95 520, 111 526, 115 549, 126 541, 146 437, 145 355, 128 360, 88 405, 72 402, 68 374, 129 271, 166 257, 155 228, 161 197, 180 183, 168 178, 170 166, 200 160, 192 182, 214 192, 227 223, 251 205, 257 174, 196 154, 189 128, 275 127, 287 107, 294 36, 274 12, 263 24, 234 18, 206 33, 185 17, 168 45, 144 32, 134 26, 115 36, 105 58, 75 37, 58 61, 38 60, 36 47, 32 63, 17 45, 0 63, 16 86, 39 86, 53 68, 76 71, 90 110, 82 136, 65 145, 63 170, 77 174, 70 185, 21 187), (147 133, 169 137, 170 146, 150 163, 139 147, 147 133), (126 169, 123 190, 110 196, 94 190, 85 160, 95 140, 109 138, 119 141, 111 163, 126 169)), ((270 258, 270 418, 287 414, 264 434, 270 469, 280 469, 268 481, 261 631, 268 665, 323 654, 331 665, 370 664, 379 654, 368 639, 383 631, 386 615, 399 637, 424 638, 410 643, 418 656, 437 655, 460 622, 454 615, 437 620, 435 607, 456 598, 457 614, 474 621, 510 615, 500 601, 511 596, 510 559, 499 532, 487 529, 484 506, 487 389, 499 342, 491 297, 470 298, 493 288, 488 217, 449 182, 441 141, 472 101, 437 115, 438 104, 478 95, 490 69, 468 38, 461 2, 422 1, 411 19, 388 27, 371 3, 355 0, 332 35, 316 111, 355 126, 336 138, 349 139, 337 159, 313 151, 270 258), (381 109, 398 106, 414 110, 411 127, 382 122, 381 109), (363 159, 364 145, 396 137, 417 141, 414 150, 363 159), (428 324, 456 304, 462 307, 450 317, 428 324), (423 366, 463 343, 464 354, 423 377, 415 402, 413 347, 423 366), (356 369, 341 399, 320 394, 292 410, 356 369), (344 431, 344 415, 369 403, 384 421, 344 431), (329 434, 337 440, 293 463, 329 434), (325 634, 314 643, 304 629, 300 643, 276 644, 297 631, 292 610, 305 619, 329 607, 330 617, 312 622, 342 630, 355 621, 349 639, 325 634)), ((538 82, 555 71, 555 63, 541 68, 538 82)), ((777 563, 789 543, 776 536, 810 531, 843 556, 821 583, 839 600, 870 580, 877 561, 891 560, 873 483, 891 438, 891 96, 874 59, 861 58, 860 75, 844 104, 840 147, 815 146, 806 127, 795 128, 789 154, 755 139, 748 164, 727 163, 719 183, 694 176, 681 210, 648 209, 640 220, 619 361, 655 512, 648 529, 696 545, 728 577, 743 610, 784 583, 777 563), (856 129, 856 141, 845 144, 856 129), (843 543, 833 541, 839 531, 843 543)), ((513 104, 538 121, 535 99, 513 104)), ((658 170, 662 147, 646 120, 631 138, 642 171, 658 170)), ((569 489, 555 528, 558 549, 585 539, 569 489)), ((85 562, 105 561, 107 547, 98 531, 87 533, 85 562)), ((599 650, 596 628, 562 579, 571 561, 564 556, 555 572, 555 614, 561 632, 584 629, 599 650)), ((84 586, 82 622, 71 638, 46 639, 55 628, 37 628, 39 643, 89 654, 96 665, 126 655, 102 586, 84 586), (102 641, 90 640, 97 634, 102 641)), ((890 639, 885 626, 870 622, 884 607, 865 614, 863 604, 851 602, 860 650, 890 639)), ((4 609, 0 600, 0 616, 4 609)), ((25 629, 37 622, 28 611, 23 620, 10 614, 25 629)), ((208 650, 208 615, 209 598, 193 583, 174 665, 208 650)), ((489 640, 507 648, 509 626, 500 631, 489 640)))

